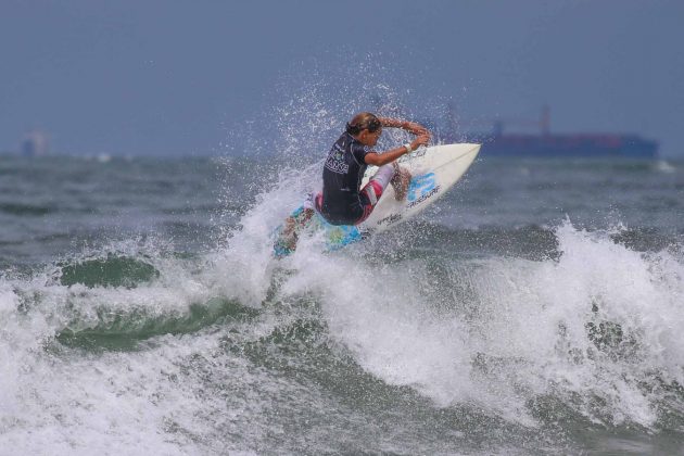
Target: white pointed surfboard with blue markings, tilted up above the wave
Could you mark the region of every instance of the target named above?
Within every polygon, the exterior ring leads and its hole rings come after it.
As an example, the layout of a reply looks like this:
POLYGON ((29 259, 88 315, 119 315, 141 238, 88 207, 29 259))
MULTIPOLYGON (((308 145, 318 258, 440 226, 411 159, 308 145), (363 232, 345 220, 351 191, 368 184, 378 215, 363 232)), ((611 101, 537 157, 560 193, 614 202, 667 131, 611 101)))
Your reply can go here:
MULTIPOLYGON (((404 155, 400 159, 400 164, 411 175, 405 200, 397 201, 394 188, 388 186, 375 210, 364 223, 355 226, 330 225, 320 214, 315 213, 303 226, 297 227, 297 236, 305 230, 322 231, 327 249, 337 250, 402 224, 434 204, 454 187, 478 156, 480 145, 474 143, 440 144, 421 148, 404 155)), ((375 166, 366 169, 362 188, 376 170, 375 166)), ((292 213, 292 217, 297 219, 303 211, 303 206, 299 207, 292 213)), ((292 252, 291 244, 283 240, 281 235, 282 226, 277 229, 274 245, 276 256, 292 252)))

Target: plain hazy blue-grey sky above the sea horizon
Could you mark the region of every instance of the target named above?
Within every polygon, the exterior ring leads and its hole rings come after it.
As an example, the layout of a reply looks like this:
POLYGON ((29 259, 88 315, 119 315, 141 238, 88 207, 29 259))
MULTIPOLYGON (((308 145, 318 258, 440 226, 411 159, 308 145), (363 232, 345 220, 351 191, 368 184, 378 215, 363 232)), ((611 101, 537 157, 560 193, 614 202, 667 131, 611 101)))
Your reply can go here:
POLYGON ((684 156, 683 43, 684 1, 0 0, 0 151, 40 128, 61 152, 236 153, 380 87, 469 127, 546 103, 552 131, 684 156))

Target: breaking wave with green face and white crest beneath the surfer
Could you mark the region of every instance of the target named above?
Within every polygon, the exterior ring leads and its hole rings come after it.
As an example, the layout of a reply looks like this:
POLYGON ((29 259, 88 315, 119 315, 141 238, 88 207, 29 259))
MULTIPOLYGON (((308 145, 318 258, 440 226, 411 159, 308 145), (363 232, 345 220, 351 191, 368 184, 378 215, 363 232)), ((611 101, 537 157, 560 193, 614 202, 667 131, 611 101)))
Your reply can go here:
POLYGON ((284 261, 258 230, 200 256, 88 253, 5 277, 3 331, 39 346, 137 351, 239 324, 227 353, 300 375, 342 363, 439 407, 476 403, 524 426, 549 407, 604 426, 657 430, 663 410, 684 420, 673 411, 684 406, 679 251, 637 251, 630 231, 569 221, 409 230, 420 235, 408 243, 389 236, 330 254, 303 240, 284 261), (525 239, 536 253, 506 248, 525 239), (472 244, 480 254, 464 254, 472 244))

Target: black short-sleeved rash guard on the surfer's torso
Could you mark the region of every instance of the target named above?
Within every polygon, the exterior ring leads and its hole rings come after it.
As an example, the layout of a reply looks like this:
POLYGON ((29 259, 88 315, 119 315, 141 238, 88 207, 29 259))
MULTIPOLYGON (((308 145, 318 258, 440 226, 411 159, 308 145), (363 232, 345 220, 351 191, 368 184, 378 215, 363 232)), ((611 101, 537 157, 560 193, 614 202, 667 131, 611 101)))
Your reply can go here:
POLYGON ((364 215, 360 182, 366 173, 368 148, 343 134, 332 144, 324 167, 320 213, 332 225, 353 225, 364 215))

